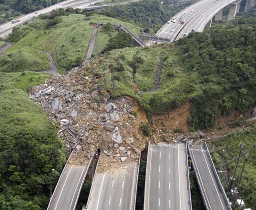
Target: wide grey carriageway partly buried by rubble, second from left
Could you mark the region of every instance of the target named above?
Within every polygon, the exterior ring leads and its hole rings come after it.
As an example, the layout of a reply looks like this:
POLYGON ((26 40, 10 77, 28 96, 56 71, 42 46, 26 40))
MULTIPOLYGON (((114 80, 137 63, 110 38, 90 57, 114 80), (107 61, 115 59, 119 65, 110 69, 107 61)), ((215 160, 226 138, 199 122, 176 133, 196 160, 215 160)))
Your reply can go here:
POLYGON ((87 210, 134 210, 138 163, 123 163, 118 173, 96 173, 87 210))

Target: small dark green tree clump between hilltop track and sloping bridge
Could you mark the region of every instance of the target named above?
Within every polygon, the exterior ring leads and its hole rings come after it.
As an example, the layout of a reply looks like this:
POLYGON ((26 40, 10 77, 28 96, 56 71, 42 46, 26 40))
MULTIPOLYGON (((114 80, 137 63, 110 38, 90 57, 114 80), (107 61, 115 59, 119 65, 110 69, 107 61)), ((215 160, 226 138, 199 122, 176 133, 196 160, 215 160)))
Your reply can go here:
POLYGON ((110 50, 121 49, 125 47, 134 47, 134 43, 131 35, 122 30, 116 36, 110 38, 103 53, 110 50))

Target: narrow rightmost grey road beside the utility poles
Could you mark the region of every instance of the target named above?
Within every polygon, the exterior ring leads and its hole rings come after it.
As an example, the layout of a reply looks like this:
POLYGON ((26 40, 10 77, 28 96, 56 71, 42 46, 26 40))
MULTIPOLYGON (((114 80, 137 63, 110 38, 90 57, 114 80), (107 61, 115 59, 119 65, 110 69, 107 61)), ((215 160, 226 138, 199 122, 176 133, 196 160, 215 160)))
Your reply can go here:
POLYGON ((194 145, 190 148, 190 153, 206 209, 228 210, 206 150, 201 145, 194 145))

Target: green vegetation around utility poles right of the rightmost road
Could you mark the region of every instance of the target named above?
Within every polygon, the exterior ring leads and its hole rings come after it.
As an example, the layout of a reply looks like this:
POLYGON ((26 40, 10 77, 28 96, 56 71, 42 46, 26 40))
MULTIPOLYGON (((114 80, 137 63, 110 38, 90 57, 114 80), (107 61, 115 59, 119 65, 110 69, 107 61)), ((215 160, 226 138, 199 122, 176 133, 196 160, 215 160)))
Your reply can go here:
MULTIPOLYGON (((254 209, 256 208, 256 153, 254 152, 256 148, 256 124, 249 126, 245 131, 241 131, 237 134, 231 134, 220 142, 212 142, 210 144, 210 149, 212 148, 211 151, 214 162, 216 164, 223 164, 238 156, 240 151, 240 142, 245 145, 245 149, 243 151, 246 151, 250 146, 254 145, 254 147, 249 150, 249 159, 245 164, 245 170, 240 185, 240 191, 244 191, 243 200, 245 200, 246 207, 254 209)), ((237 180, 240 176, 243 161, 244 155, 242 155, 241 161, 238 165, 235 177, 236 181, 233 184, 234 187, 237 186, 237 180)), ((236 159, 225 165, 225 169, 227 169, 229 175, 233 173, 235 165, 236 159)), ((223 168, 224 167, 222 167, 222 169, 223 168)))

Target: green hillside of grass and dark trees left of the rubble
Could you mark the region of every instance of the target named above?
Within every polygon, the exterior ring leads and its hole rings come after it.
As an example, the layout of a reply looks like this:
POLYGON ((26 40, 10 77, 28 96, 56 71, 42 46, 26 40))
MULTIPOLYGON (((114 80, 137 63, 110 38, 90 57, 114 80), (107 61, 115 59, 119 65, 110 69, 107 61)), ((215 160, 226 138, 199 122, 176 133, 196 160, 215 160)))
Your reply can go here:
POLYGON ((49 75, 0 72, 0 209, 44 210, 50 169, 56 183, 65 150, 55 125, 26 92, 49 75))

